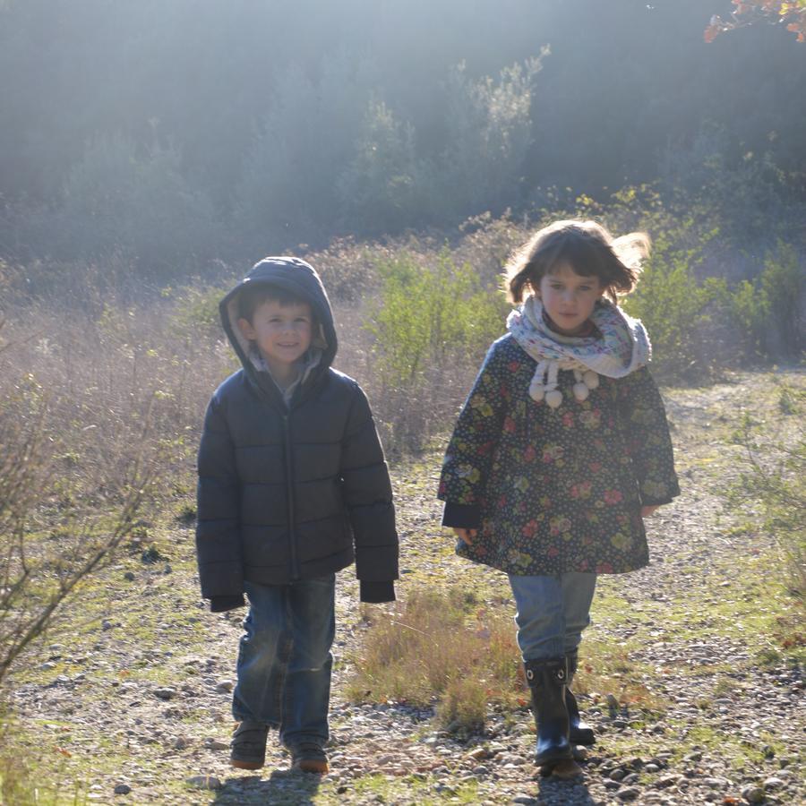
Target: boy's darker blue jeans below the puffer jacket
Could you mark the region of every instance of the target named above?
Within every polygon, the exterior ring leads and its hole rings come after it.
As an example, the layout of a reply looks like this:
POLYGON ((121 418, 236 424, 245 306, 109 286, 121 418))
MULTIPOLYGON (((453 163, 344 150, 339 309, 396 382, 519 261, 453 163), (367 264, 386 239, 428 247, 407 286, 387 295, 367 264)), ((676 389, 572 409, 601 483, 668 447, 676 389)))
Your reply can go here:
POLYGON ((336 575, 244 587, 250 607, 238 650, 233 716, 278 728, 287 747, 324 744, 330 735, 336 575))

